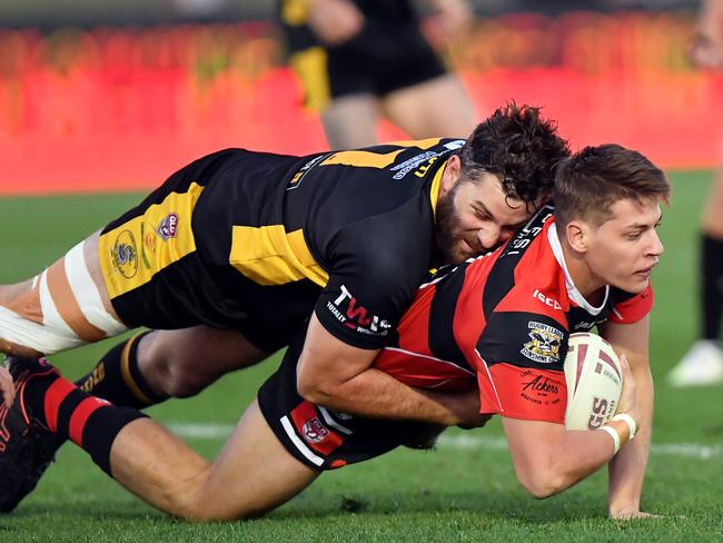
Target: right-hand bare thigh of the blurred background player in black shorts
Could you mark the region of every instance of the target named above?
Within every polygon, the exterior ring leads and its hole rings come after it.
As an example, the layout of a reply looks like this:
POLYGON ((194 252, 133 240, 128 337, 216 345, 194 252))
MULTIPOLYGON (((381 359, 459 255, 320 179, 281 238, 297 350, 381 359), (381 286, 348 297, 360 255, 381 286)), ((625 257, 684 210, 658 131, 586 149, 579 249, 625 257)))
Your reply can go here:
POLYGON ((413 138, 466 138, 475 128, 472 101, 450 73, 389 92, 383 113, 413 138))

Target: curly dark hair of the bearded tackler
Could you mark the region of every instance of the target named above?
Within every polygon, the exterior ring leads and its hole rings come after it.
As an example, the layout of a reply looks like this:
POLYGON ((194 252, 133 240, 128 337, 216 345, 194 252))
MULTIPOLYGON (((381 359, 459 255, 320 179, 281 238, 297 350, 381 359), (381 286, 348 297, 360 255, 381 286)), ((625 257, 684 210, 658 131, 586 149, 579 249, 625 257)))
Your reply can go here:
POLYGON ((539 108, 514 102, 477 125, 459 151, 462 179, 477 180, 483 171, 497 175, 505 195, 528 207, 549 198, 555 166, 567 157, 557 125, 543 119, 539 108))

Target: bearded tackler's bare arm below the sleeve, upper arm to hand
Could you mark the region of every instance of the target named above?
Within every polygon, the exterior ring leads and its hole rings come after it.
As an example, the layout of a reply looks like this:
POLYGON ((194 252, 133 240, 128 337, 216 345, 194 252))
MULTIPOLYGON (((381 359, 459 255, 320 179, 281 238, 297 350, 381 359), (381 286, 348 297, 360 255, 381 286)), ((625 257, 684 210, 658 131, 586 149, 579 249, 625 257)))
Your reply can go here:
POLYGON ((377 349, 353 347, 311 316, 299 359, 299 395, 315 404, 356 415, 481 425, 479 396, 442 394, 407 386, 372 367, 377 349))

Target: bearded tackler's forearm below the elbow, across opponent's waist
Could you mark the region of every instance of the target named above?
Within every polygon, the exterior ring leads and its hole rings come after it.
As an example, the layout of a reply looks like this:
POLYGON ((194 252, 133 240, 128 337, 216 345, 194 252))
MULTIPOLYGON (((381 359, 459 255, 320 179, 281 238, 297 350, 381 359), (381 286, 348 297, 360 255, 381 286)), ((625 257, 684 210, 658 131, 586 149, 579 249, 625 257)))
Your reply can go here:
POLYGON ((423 421, 447 426, 462 422, 458 395, 413 388, 376 368, 337 384, 303 394, 325 407, 375 418, 423 421))

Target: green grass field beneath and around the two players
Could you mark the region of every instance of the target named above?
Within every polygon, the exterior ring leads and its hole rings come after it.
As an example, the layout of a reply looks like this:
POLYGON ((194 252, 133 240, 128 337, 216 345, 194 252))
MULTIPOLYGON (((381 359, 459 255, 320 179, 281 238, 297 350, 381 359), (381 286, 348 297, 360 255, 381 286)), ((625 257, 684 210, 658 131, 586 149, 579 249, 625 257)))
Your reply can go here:
MULTIPOLYGON (((0 516, 0 542, 720 539, 723 389, 676 391, 662 378, 696 329, 695 231, 711 175, 672 178, 674 200, 661 227, 666 253, 654 278, 652 365, 658 384, 644 492, 644 509, 662 519, 608 521, 603 473, 553 498, 528 497, 515 481, 496 421, 473 432, 449 431, 433 453, 396 451, 328 473, 267 517, 228 524, 169 519, 125 492, 69 445, 37 491, 14 513, 0 516)), ((0 282, 34 275, 138 199, 139 195, 0 199, 0 282)), ((109 346, 86 347, 52 361, 76 377, 109 346)), ((278 358, 229 375, 196 398, 170 401, 150 413, 212 457, 277 363, 278 358)))

